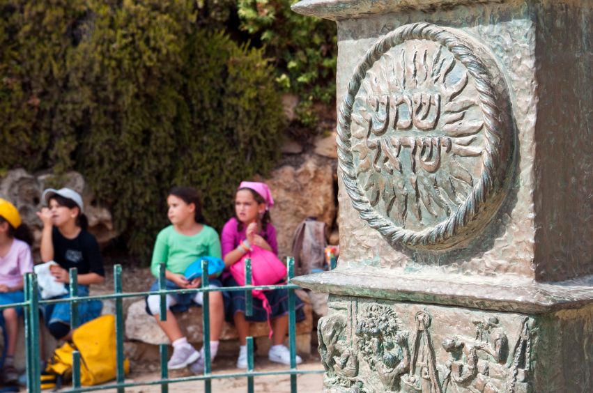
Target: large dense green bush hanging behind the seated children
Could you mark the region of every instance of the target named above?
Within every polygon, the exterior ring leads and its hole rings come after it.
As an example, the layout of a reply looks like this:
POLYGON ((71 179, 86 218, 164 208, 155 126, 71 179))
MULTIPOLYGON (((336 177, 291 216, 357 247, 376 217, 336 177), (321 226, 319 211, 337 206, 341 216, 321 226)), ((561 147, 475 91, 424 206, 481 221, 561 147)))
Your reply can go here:
POLYGON ((220 229, 240 180, 272 168, 283 128, 273 70, 261 49, 198 29, 199 4, 52 1, 30 19, 33 2, 10 3, 22 6, 0 16, 0 169, 77 169, 133 254, 148 256, 167 224, 171 185, 199 188, 220 229))

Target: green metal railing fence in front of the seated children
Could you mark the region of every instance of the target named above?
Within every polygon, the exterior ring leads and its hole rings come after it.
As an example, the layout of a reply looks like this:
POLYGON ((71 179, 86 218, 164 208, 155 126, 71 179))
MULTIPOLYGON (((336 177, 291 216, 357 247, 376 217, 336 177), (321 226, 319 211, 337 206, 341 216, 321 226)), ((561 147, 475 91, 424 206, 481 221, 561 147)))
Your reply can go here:
MULTIPOLYGON (((330 268, 336 265, 334 256, 330 259, 330 268)), ((202 282, 201 288, 196 289, 165 289, 164 279, 164 265, 160 266, 159 275, 159 291, 157 292, 134 292, 123 293, 121 279, 122 268, 121 265, 114 265, 114 293, 109 295, 95 295, 95 296, 78 296, 78 279, 77 270, 70 270, 70 297, 66 299, 52 299, 40 300, 38 283, 36 275, 28 273, 24 278, 24 302, 15 303, 12 305, 0 306, 1 309, 10 307, 24 308, 24 336, 26 349, 26 380, 29 392, 40 392, 40 321, 39 321, 39 307, 40 305, 48 305, 52 303, 69 302, 71 317, 70 325, 72 328, 79 326, 78 307, 79 302, 88 302, 90 300, 107 300, 113 299, 115 301, 115 323, 116 323, 116 354, 117 354, 117 370, 116 379, 111 383, 104 385, 95 385, 82 387, 80 384, 80 353, 75 350, 72 354, 72 386, 64 387, 64 392, 91 392, 98 390, 116 389, 117 392, 124 392, 126 387, 146 386, 146 385, 160 385, 161 392, 167 393, 169 385, 174 383, 188 382, 188 381, 203 381, 204 391, 209 393, 212 391, 212 380, 216 378, 247 378, 247 392, 254 392, 254 378, 258 376, 273 376, 273 375, 290 375, 291 376, 291 392, 297 392, 297 376, 306 373, 323 373, 323 369, 318 370, 299 370, 296 366, 296 319, 295 319, 295 289, 299 288, 295 284, 291 284, 291 279, 294 277, 295 267, 294 259, 288 257, 286 259, 286 267, 288 270, 288 282, 284 285, 261 285, 252 286, 252 268, 251 261, 247 259, 245 263, 245 286, 233 286, 223 288, 208 288, 208 261, 202 261, 202 282), (247 370, 237 373, 211 373, 210 365, 210 316, 209 316, 209 293, 212 291, 245 291, 246 302, 246 316, 252 315, 252 290, 254 289, 277 289, 283 288, 288 290, 288 340, 290 344, 291 364, 290 369, 280 371, 254 371, 254 355, 253 355, 253 338, 247 337, 247 370), (169 370, 167 369, 167 344, 160 345, 160 369, 161 375, 159 380, 143 381, 139 383, 125 382, 124 374, 124 353, 123 353, 123 335, 124 335, 124 321, 123 321, 123 299, 134 297, 145 297, 147 295, 160 295, 160 318, 165 321, 167 318, 167 305, 165 297, 168 293, 197 293, 203 292, 203 348, 205 355, 205 367, 203 375, 189 376, 182 378, 169 378, 169 370)))

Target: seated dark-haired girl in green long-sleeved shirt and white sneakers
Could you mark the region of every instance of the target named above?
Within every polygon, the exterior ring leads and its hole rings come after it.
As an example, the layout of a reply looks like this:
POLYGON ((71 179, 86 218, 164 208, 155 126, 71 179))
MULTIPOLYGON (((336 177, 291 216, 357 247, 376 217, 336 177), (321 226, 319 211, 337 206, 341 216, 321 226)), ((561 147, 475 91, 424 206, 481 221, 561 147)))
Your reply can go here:
MULTIPOLYGON (((151 272, 158 278, 160 263, 165 265, 167 289, 198 288, 201 278, 188 281, 184 272, 187 266, 202 256, 220 258, 220 240, 216 231, 204 224, 201 214, 199 194, 191 187, 174 187, 167 197, 168 217, 171 225, 160 231, 155 242, 151 272)), ((217 278, 210 279, 210 288, 222 284, 217 278)), ((151 291, 158 290, 158 282, 151 291)), ((169 369, 183 369, 190 366, 194 373, 203 372, 203 348, 198 352, 181 332, 171 309, 187 311, 191 305, 202 305, 203 293, 167 295, 167 321, 160 321, 160 295, 150 295, 146 299, 146 311, 155 316, 161 329, 173 344, 173 355, 169 359, 169 369)), ((210 354, 214 360, 218 351, 218 339, 224 322, 224 302, 222 292, 210 292, 210 354)))

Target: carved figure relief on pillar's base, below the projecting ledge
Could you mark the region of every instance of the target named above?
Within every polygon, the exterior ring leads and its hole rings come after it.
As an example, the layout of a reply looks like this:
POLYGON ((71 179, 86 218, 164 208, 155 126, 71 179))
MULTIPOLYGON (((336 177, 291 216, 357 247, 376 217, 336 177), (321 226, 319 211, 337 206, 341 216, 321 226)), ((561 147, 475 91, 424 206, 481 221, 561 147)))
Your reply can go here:
POLYGON ((318 325, 325 387, 360 393, 532 392, 533 321, 503 326, 487 316, 469 323, 475 334, 440 333, 435 341, 427 311, 404 317, 389 305, 356 300, 339 311, 332 307, 318 325), (512 346, 509 328, 516 338, 512 346))

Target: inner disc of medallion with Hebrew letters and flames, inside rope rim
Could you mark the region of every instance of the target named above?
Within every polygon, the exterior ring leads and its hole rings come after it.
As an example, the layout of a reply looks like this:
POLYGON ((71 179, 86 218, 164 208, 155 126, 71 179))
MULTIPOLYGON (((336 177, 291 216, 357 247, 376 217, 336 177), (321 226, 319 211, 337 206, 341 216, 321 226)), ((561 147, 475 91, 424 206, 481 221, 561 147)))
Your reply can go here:
POLYGON ((392 221, 423 229, 468 197, 484 121, 467 70, 446 49, 409 40, 387 52, 363 79, 352 119, 357 178, 392 221))

